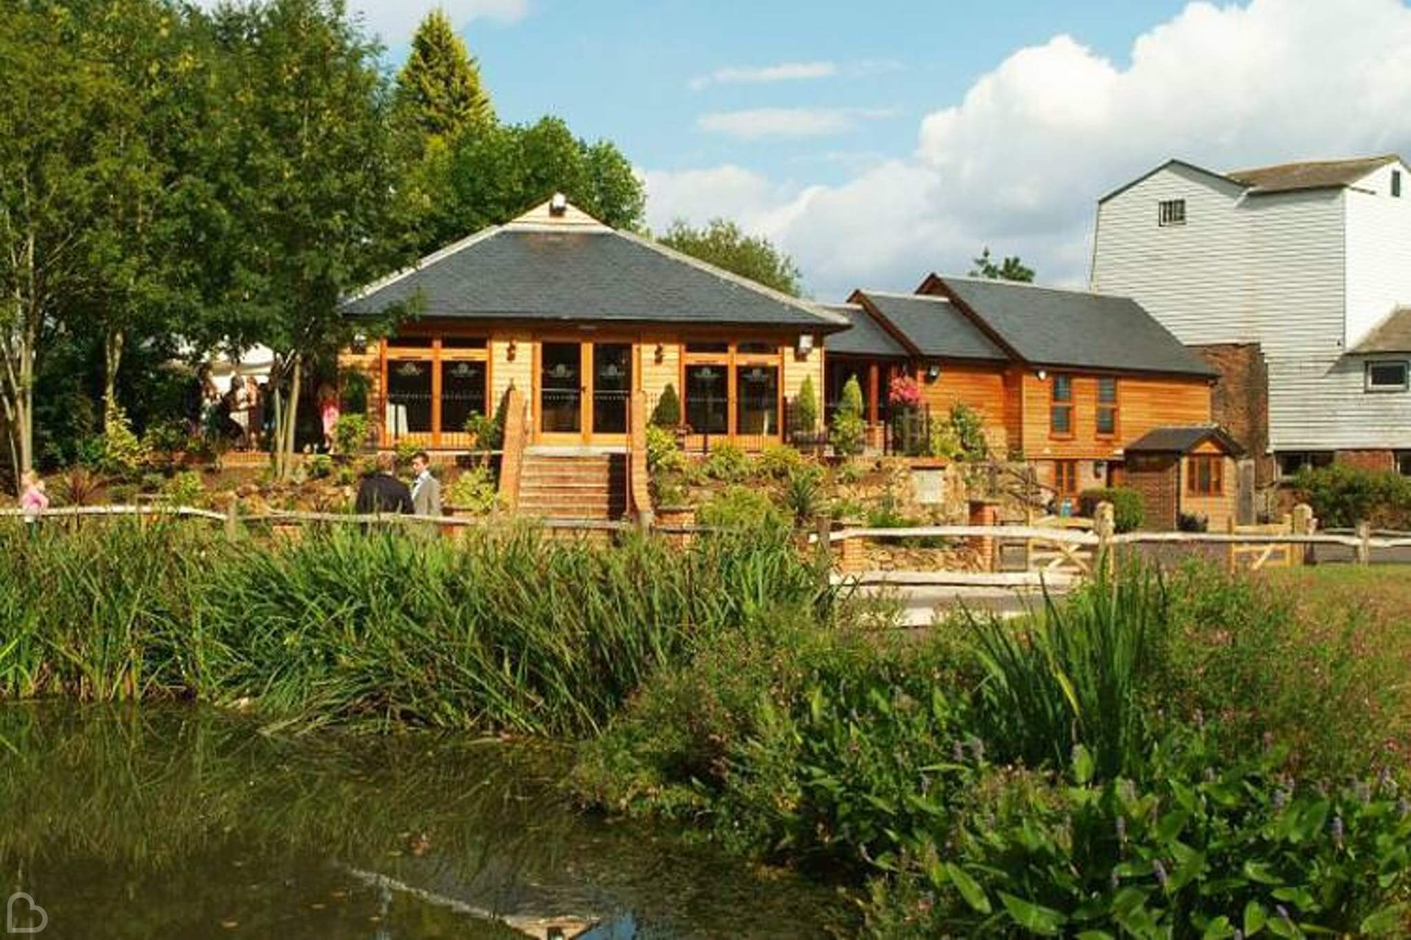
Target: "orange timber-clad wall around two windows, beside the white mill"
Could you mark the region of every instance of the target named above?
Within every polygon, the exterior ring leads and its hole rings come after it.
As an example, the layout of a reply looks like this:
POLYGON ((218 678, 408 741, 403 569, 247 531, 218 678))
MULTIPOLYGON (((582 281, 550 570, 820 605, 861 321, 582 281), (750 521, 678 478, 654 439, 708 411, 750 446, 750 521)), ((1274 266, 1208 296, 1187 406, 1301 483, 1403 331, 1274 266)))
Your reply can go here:
POLYGON ((1047 378, 1026 373, 1020 380, 1023 384, 1023 440, 1020 446, 1030 460, 1120 457, 1119 452, 1125 442, 1136 440, 1149 430, 1211 422, 1211 387, 1205 380, 1119 375, 1116 435, 1099 438, 1096 433, 1098 377, 1068 373, 1074 375, 1072 435, 1054 438, 1050 433, 1054 371, 1050 370, 1047 378))

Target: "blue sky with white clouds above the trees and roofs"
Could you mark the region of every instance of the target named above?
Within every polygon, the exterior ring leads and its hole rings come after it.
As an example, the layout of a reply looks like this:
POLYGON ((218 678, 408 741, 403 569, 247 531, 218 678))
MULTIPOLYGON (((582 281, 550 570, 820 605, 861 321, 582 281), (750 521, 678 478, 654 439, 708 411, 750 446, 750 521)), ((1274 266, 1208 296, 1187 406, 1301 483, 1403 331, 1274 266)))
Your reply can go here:
MULTIPOLYGON (((433 0, 350 0, 405 55, 433 0)), ((728 216, 820 299, 983 246, 1086 279, 1098 196, 1212 169, 1411 152, 1405 0, 444 0, 502 119, 614 140, 648 223, 728 216)))

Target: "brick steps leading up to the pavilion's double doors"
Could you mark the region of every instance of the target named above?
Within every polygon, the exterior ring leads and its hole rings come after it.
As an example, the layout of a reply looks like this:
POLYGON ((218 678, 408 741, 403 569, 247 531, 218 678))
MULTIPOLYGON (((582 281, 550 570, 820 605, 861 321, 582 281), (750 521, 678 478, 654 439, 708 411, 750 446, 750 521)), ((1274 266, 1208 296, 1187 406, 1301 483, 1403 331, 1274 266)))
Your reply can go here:
POLYGON ((621 519, 626 512, 626 456, 525 450, 519 511, 546 519, 621 519))

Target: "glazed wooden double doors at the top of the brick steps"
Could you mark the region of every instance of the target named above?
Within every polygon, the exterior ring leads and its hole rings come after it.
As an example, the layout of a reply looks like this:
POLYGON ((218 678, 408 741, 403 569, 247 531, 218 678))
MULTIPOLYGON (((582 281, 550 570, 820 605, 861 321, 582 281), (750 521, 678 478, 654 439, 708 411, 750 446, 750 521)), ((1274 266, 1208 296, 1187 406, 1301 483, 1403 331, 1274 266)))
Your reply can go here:
POLYGON ((539 442, 621 443, 632 395, 632 344, 539 344, 539 442))

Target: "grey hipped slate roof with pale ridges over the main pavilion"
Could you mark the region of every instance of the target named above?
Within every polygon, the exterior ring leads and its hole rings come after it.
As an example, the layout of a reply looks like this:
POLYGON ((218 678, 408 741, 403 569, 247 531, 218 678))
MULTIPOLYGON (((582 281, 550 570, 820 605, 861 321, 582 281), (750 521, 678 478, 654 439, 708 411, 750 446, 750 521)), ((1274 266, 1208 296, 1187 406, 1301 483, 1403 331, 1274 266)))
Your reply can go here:
POLYGON ((485 229, 350 298, 347 316, 412 303, 420 316, 800 327, 848 320, 549 203, 485 229))

